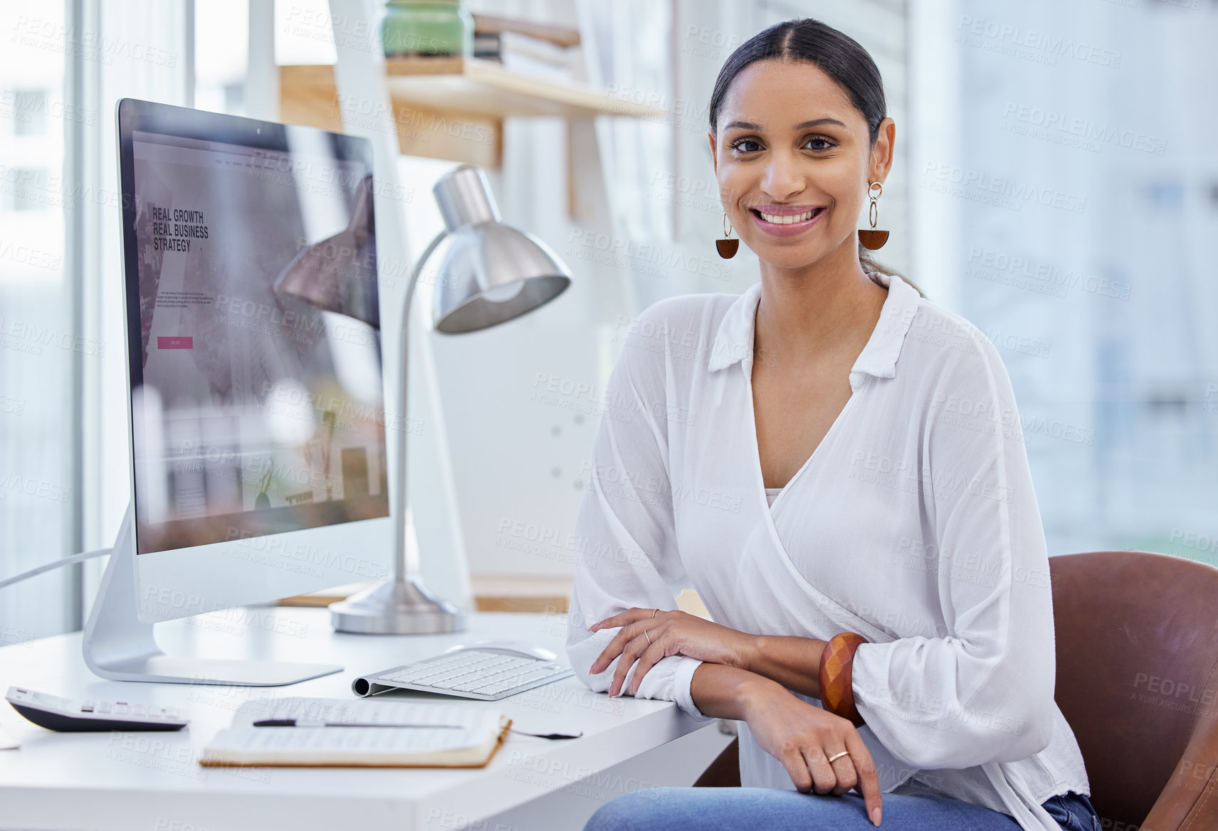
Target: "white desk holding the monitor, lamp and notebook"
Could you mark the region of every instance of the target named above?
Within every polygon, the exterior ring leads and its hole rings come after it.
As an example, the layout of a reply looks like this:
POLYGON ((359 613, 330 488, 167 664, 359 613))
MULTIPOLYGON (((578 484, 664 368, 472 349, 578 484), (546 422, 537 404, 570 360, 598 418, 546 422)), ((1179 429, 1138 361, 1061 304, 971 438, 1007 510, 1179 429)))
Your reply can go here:
MULTIPOLYGON (((574 678, 498 702, 463 701, 469 707, 502 708, 520 730, 583 731, 582 739, 569 741, 509 734, 486 768, 209 769, 197 764, 202 747, 228 726, 233 711, 247 698, 354 700, 350 685, 357 675, 482 638, 535 642, 563 656, 565 630, 565 616, 477 613, 470 616, 469 630, 457 635, 342 635, 330 629, 326 610, 270 607, 157 627, 162 648, 174 655, 346 667, 341 674, 262 689, 106 681, 85 668, 79 633, 6 646, 0 648, 0 690, 16 684, 72 698, 175 706, 192 720, 180 732, 57 734, 34 726, 0 702, 0 725, 22 742, 19 749, 0 751, 0 829, 559 831, 572 822, 580 827, 598 804, 621 793, 692 784, 697 770, 688 764, 691 759, 704 768, 730 737, 714 726, 698 730, 705 725, 672 703, 609 698, 574 678), (694 731, 689 740, 667 746, 695 751, 686 753, 687 770, 677 771, 675 779, 671 759, 659 765, 643 762, 648 751, 694 731), (546 803, 535 802, 543 797, 546 803), (568 808, 554 810, 565 810, 565 820, 551 809, 536 810, 563 801, 568 808), (576 815, 579 821, 571 819, 576 815), (502 816, 515 819, 499 821, 502 816)), ((437 700, 425 694, 389 695, 437 700)))

